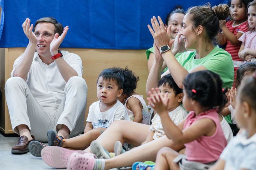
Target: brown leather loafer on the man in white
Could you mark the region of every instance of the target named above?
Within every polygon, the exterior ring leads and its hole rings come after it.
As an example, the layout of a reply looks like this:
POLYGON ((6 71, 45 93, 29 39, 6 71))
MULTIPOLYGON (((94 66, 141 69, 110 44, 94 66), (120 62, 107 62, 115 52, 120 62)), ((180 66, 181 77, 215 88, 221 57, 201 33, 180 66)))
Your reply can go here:
POLYGON ((31 135, 33 138, 32 140, 28 140, 28 137, 26 136, 21 136, 19 141, 12 146, 12 153, 27 153, 28 152, 28 144, 35 140, 35 137, 31 135))

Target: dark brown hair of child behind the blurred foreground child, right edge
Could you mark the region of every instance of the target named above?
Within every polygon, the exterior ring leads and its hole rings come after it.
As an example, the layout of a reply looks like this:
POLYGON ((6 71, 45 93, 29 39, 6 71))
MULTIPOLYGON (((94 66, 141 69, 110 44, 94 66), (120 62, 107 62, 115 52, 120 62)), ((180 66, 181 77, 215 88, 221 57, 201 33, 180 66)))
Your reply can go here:
POLYGON ((252 74, 256 70, 256 63, 244 63, 236 71, 236 88, 241 84, 246 74, 252 74))

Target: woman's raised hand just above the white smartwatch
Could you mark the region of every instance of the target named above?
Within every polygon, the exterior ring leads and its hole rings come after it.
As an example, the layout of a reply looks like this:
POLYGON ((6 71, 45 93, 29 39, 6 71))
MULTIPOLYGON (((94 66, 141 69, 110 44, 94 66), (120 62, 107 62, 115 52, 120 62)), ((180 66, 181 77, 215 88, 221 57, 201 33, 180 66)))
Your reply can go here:
POLYGON ((171 36, 166 33, 162 19, 159 16, 157 18, 159 23, 156 17, 151 18, 151 24, 153 29, 151 28, 150 25, 148 25, 148 29, 154 38, 156 46, 160 48, 164 45, 169 44, 171 36))

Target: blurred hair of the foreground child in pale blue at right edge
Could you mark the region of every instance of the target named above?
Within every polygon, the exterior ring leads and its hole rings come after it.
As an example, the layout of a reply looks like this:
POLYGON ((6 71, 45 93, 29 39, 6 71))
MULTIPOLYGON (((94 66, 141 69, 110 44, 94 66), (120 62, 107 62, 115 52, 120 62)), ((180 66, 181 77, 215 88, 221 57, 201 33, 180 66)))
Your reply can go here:
POLYGON ((241 102, 247 102, 256 111, 256 72, 246 78, 238 89, 238 97, 241 102))

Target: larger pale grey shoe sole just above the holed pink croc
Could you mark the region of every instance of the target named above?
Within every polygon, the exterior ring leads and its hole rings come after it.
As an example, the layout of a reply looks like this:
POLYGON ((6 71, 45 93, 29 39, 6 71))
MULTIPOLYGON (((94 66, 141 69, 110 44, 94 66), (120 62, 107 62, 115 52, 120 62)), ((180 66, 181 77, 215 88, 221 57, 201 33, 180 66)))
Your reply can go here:
POLYGON ((92 141, 90 144, 91 152, 96 155, 98 159, 110 159, 110 156, 106 153, 100 142, 92 141))

